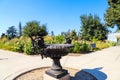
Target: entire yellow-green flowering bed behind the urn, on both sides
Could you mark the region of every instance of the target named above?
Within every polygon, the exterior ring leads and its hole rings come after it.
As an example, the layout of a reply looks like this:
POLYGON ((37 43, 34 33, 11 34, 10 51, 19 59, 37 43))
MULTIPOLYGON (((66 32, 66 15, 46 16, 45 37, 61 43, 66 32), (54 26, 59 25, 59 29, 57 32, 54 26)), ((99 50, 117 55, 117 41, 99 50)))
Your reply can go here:
MULTIPOLYGON (((63 36, 45 36, 45 43, 46 44, 61 44, 65 42, 65 38, 63 36)), ((109 42, 109 41, 94 41, 96 44, 96 48, 92 49, 90 44, 93 42, 90 41, 72 41, 72 44, 74 47, 70 50, 70 52, 74 53, 81 53, 81 52, 88 52, 88 51, 96 51, 101 50, 104 48, 108 48, 110 46, 115 46, 116 43, 109 42)), ((3 37, 0 39, 0 49, 15 51, 15 52, 24 52, 25 54, 32 55, 34 54, 32 52, 31 48, 31 40, 28 37, 20 37, 20 38, 14 38, 11 40, 7 40, 7 38, 3 37)))

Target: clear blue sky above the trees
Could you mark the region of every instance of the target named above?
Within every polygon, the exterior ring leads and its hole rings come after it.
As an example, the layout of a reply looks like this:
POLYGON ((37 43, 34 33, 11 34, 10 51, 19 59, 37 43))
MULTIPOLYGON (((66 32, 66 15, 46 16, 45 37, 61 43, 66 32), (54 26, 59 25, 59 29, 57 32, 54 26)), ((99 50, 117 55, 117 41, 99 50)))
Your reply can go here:
POLYGON ((32 20, 47 24, 49 33, 56 35, 69 29, 79 31, 80 15, 96 14, 103 22, 107 7, 107 0, 0 0, 0 34, 32 20))

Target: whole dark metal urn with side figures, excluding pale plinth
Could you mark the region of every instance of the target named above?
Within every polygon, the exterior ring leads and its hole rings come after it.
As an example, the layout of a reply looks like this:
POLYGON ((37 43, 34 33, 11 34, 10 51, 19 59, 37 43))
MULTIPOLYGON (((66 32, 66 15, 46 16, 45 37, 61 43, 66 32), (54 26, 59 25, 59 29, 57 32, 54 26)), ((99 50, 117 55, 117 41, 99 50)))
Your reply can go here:
POLYGON ((36 36, 33 40, 34 52, 40 53, 42 58, 50 57, 53 60, 51 69, 46 71, 46 74, 56 79, 68 74, 68 71, 62 68, 60 59, 69 53, 71 47, 73 45, 69 38, 66 38, 65 44, 45 44, 42 36, 36 36))

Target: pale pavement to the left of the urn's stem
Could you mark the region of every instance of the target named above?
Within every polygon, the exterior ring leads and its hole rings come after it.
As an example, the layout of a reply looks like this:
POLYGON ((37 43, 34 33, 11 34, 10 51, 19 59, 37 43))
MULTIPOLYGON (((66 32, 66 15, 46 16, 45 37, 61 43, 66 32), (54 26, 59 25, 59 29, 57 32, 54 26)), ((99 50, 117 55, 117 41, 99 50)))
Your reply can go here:
POLYGON ((22 53, 0 50, 0 80, 13 80, 25 71, 51 65, 51 60, 41 56, 27 56, 22 53))

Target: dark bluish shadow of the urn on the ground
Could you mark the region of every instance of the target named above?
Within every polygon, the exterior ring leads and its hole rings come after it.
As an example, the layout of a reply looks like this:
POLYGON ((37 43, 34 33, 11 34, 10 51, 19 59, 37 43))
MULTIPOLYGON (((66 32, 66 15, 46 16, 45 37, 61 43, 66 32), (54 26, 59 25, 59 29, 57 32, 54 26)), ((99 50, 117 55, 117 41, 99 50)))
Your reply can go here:
POLYGON ((82 69, 77 72, 70 80, 106 80, 107 75, 100 71, 102 67, 94 69, 82 69))

